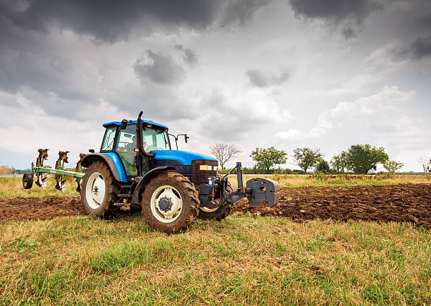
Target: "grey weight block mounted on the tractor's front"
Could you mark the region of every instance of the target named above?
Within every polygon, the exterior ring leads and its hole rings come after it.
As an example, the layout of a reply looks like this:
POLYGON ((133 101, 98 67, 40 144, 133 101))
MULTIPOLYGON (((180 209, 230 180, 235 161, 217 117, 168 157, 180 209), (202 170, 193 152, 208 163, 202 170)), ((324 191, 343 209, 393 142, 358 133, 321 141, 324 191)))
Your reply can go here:
POLYGON ((268 178, 251 178, 246 182, 247 190, 251 189, 249 196, 250 207, 273 207, 280 200, 280 185, 268 178))

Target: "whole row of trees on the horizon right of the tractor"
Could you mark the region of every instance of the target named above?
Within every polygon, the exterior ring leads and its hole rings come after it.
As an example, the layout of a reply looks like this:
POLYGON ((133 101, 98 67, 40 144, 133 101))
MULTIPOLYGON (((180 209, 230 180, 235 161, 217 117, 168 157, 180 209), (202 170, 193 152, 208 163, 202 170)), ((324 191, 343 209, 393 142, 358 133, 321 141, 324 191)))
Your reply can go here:
MULTIPOLYGON (((218 159, 220 166, 224 169, 227 161, 236 157, 242 149, 235 145, 215 143, 210 147, 211 153, 218 159)), ((389 175, 394 175, 404 164, 401 161, 389 159, 389 155, 383 147, 372 145, 351 145, 346 151, 335 154, 330 161, 324 159, 325 154, 318 148, 298 147, 293 150, 292 158, 294 164, 301 170, 277 169, 278 165, 285 164, 288 154, 284 150, 269 148, 256 148, 251 151, 250 157, 254 160, 253 169, 244 169, 244 173, 307 173, 310 169, 323 173, 355 173, 366 174, 370 171, 377 171, 377 164, 387 170, 389 175)), ((431 159, 418 159, 423 166, 424 172, 431 172, 431 159)))

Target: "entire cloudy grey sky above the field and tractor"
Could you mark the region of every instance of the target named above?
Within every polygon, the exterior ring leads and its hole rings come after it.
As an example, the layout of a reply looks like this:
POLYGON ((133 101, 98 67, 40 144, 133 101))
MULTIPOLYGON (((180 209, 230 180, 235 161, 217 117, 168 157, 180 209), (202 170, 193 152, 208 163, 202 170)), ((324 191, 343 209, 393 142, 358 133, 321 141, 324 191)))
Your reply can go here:
MULTIPOLYGON (((385 147, 431 157, 429 0, 0 0, 0 164, 98 150, 144 118, 179 147, 385 147)), ((382 169, 377 168, 377 170, 382 169)))

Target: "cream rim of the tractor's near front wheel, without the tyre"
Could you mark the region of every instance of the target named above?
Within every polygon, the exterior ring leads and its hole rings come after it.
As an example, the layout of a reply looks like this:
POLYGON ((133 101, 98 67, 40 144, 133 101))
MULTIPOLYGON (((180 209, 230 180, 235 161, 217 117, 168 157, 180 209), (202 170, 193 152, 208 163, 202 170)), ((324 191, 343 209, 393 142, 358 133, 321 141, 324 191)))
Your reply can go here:
POLYGON ((177 189, 163 185, 151 195, 151 213, 163 223, 175 221, 182 212, 182 197, 177 189))

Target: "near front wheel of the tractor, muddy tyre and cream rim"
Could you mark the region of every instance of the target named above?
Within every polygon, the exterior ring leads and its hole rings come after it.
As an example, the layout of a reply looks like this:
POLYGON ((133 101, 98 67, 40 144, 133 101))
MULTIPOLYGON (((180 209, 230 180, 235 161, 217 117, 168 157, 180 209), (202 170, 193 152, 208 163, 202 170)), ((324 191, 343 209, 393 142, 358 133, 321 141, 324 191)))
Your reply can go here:
POLYGON ((142 192, 142 214, 151 228, 178 233, 195 221, 198 199, 196 188, 185 176, 161 173, 152 178, 142 192))

